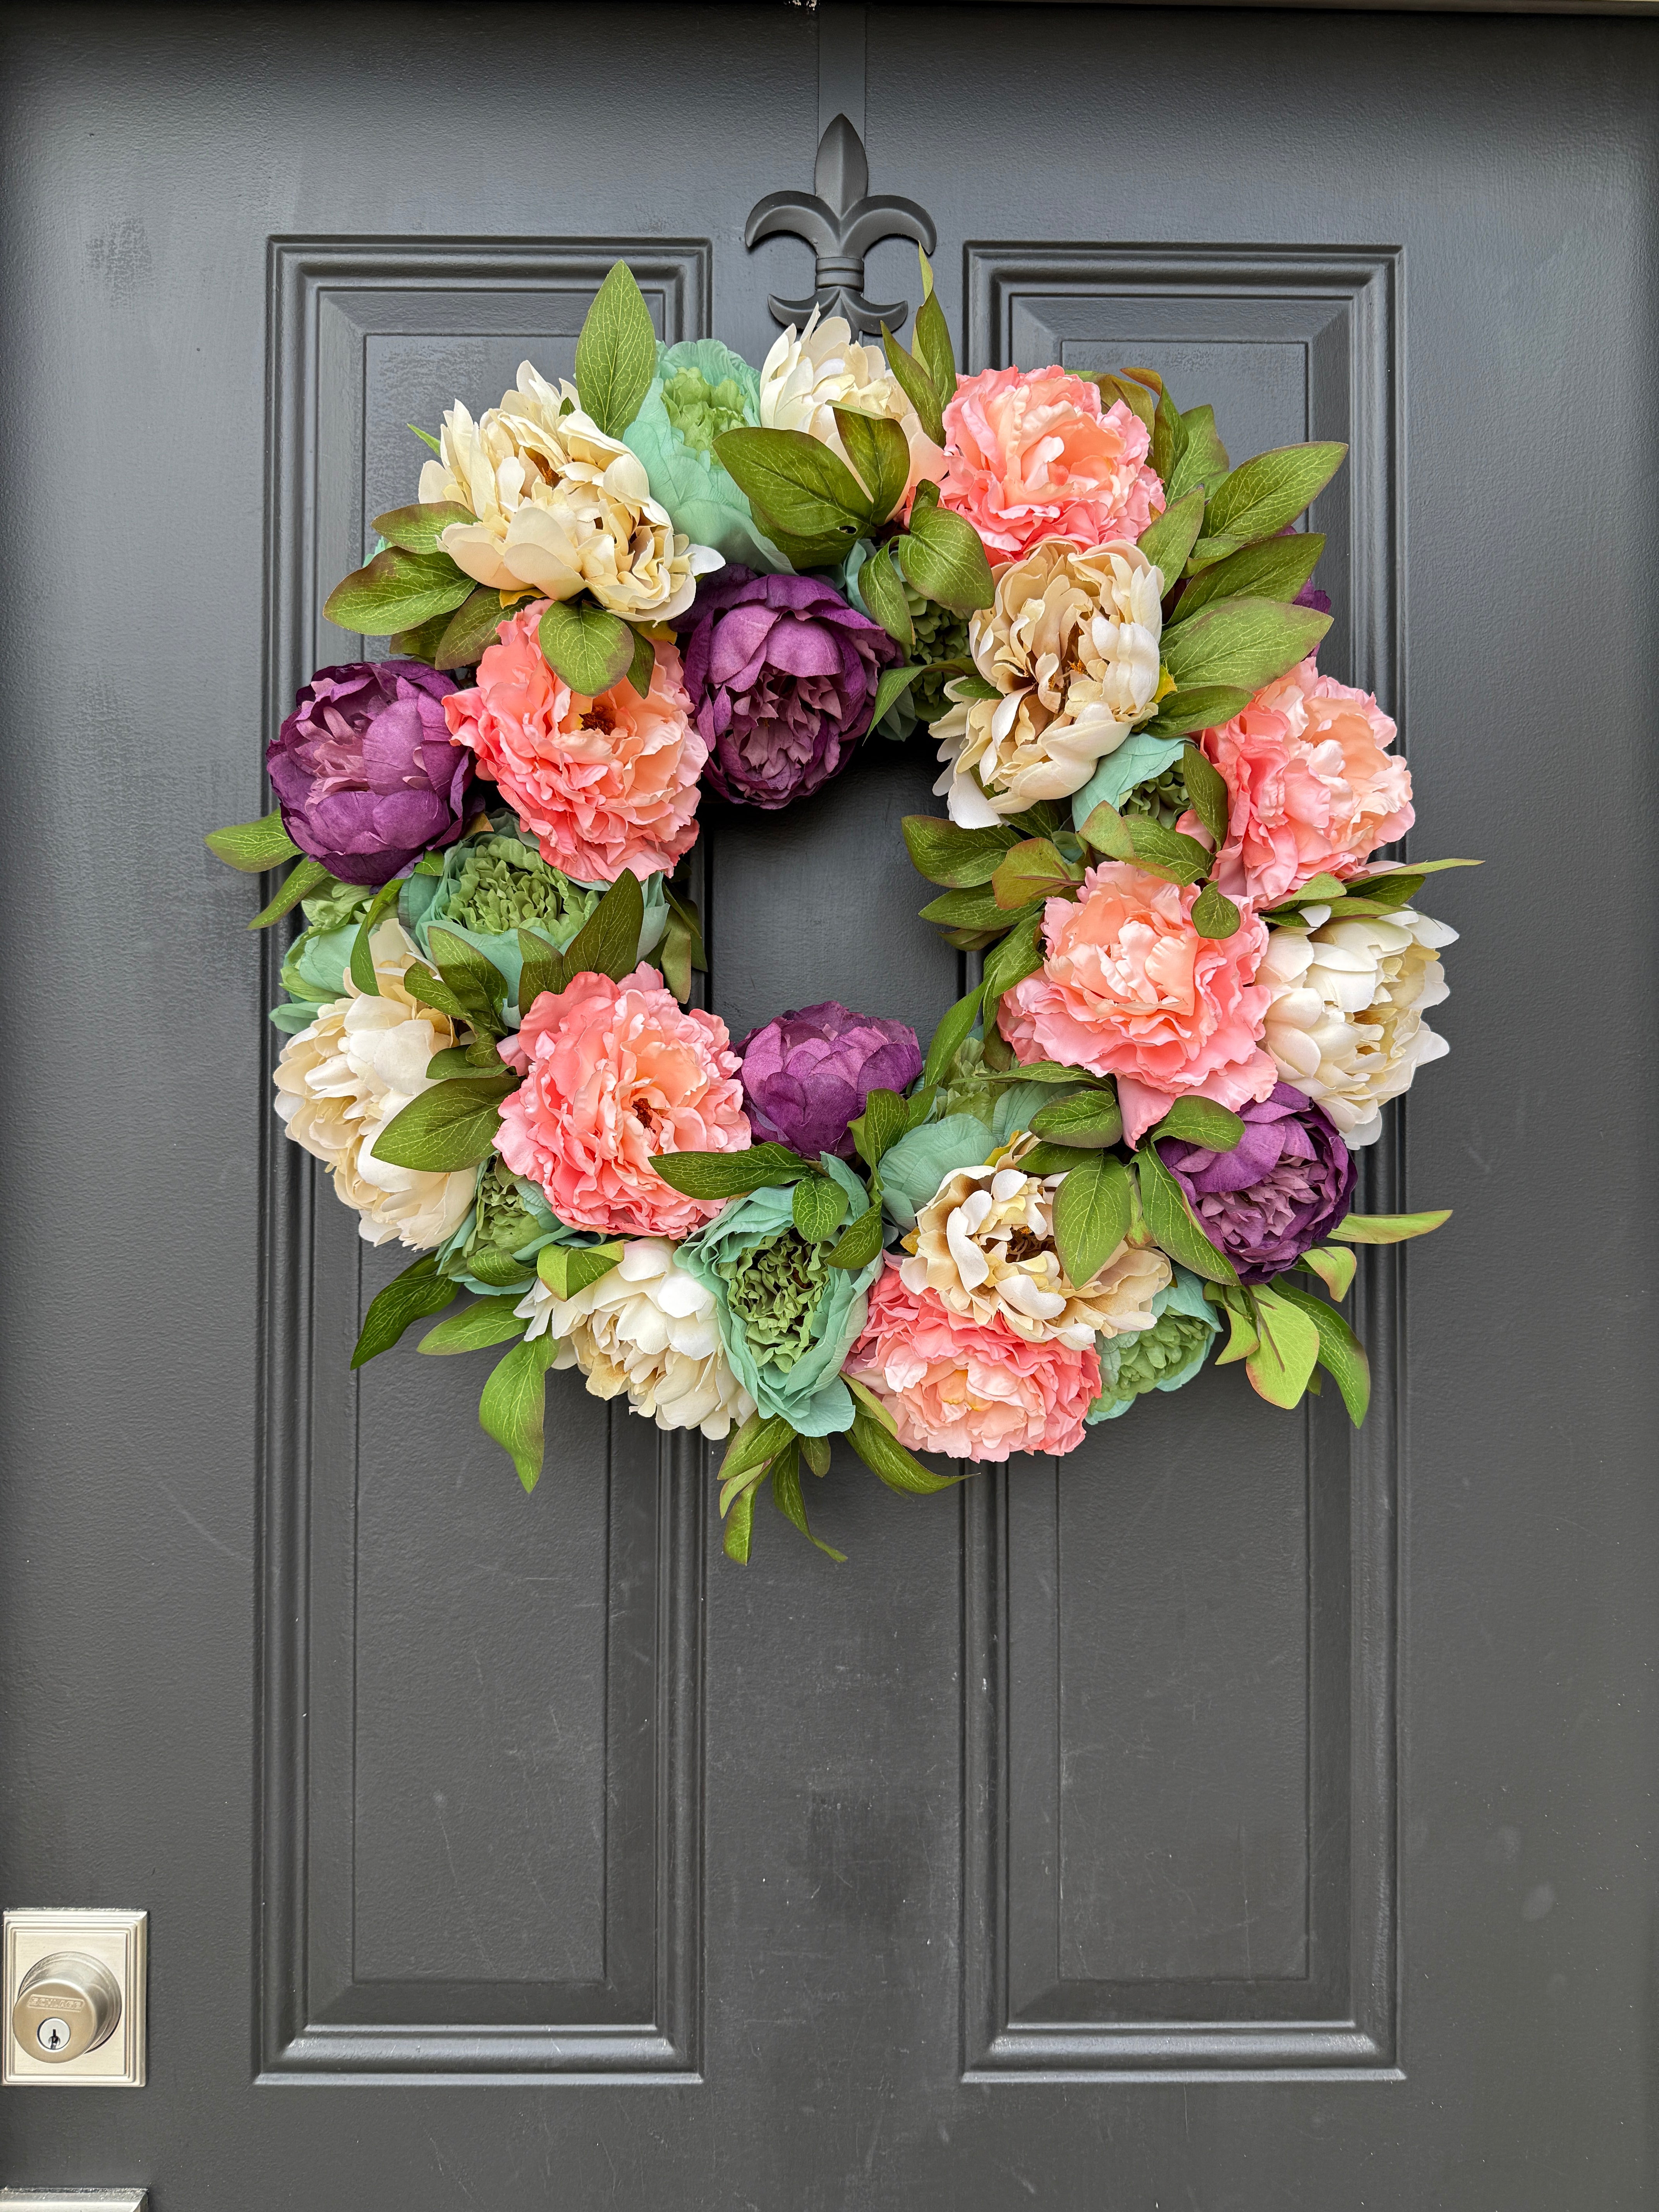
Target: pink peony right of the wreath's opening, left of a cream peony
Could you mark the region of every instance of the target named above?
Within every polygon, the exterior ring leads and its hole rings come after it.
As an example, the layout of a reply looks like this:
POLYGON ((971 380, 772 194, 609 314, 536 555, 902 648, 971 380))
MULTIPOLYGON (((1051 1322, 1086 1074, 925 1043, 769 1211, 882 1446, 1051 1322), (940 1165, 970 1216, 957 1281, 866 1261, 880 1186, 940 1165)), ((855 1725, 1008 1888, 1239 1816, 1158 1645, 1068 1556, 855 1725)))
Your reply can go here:
POLYGON ((1048 956, 998 1013, 1015 1057, 1115 1075, 1130 1144, 1177 1097, 1243 1106, 1279 1082, 1256 1042, 1272 998, 1252 980, 1267 929, 1243 907, 1230 938, 1201 938, 1197 902, 1194 885, 1128 860, 1091 867, 1077 900, 1042 909, 1048 956))

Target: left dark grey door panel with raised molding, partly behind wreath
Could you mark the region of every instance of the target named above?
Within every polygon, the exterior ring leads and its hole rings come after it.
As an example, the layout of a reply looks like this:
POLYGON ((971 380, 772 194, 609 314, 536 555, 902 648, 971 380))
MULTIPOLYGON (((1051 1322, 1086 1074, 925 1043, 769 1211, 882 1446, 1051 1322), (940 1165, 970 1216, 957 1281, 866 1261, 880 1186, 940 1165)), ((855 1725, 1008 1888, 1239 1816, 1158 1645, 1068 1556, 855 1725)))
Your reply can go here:
MULTIPOLYGON (((706 330, 706 241, 272 241, 272 728, 361 653, 321 602, 411 498, 403 425, 568 374, 617 259, 664 338, 706 330)), ((549 1376, 526 1502, 487 1363, 411 1332, 349 1374, 409 1254, 263 1141, 259 2079, 695 2079, 701 1440, 549 1376)))

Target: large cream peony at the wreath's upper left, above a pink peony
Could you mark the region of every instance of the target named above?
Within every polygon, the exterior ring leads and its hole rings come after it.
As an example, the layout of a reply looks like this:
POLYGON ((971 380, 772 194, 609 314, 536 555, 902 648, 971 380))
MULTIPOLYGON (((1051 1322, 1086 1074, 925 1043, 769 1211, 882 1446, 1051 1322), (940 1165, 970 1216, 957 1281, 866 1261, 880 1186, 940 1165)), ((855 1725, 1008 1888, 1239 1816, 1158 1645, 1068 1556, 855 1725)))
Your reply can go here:
POLYGON ((520 363, 518 389, 478 422, 456 400, 442 460, 420 471, 420 498, 458 500, 476 522, 451 522, 440 544, 467 575, 495 591, 571 599, 591 591, 630 622, 672 622, 697 577, 723 568, 712 546, 677 535, 650 478, 617 438, 520 363))

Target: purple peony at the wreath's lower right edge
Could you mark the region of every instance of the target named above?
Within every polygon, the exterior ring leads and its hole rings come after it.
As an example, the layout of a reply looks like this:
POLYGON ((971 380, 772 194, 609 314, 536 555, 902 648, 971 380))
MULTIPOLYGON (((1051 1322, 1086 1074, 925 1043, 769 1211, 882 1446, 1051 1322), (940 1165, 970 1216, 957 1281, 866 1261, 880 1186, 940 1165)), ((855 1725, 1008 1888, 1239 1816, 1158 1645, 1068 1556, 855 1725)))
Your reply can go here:
POLYGON ((1332 1117, 1290 1084, 1239 1115, 1237 1152, 1166 1137, 1159 1155, 1239 1281, 1267 1283, 1343 1219, 1356 1161, 1332 1117))

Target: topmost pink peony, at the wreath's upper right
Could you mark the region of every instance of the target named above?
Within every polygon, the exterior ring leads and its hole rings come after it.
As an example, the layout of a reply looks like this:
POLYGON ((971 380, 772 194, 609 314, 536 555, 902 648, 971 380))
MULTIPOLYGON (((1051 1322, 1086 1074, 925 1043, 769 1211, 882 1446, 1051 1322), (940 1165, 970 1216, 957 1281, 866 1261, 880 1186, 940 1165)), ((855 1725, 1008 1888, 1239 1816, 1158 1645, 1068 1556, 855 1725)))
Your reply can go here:
POLYGON ((967 515, 993 562, 1040 538, 1097 546, 1139 538, 1164 509, 1146 425, 1066 369, 964 376, 945 409, 940 500, 967 515))

